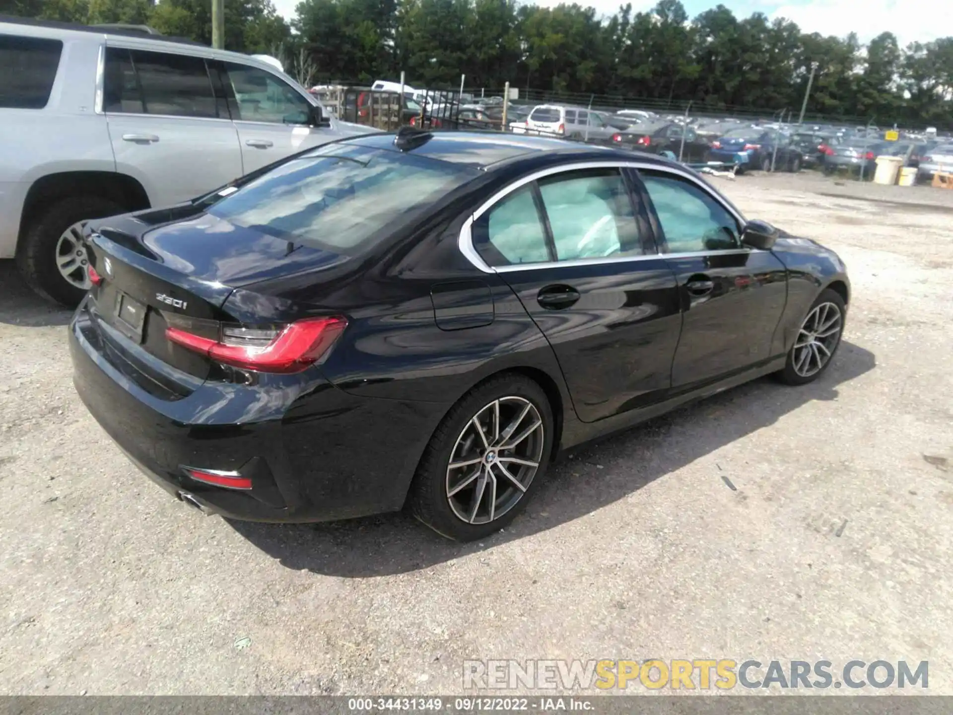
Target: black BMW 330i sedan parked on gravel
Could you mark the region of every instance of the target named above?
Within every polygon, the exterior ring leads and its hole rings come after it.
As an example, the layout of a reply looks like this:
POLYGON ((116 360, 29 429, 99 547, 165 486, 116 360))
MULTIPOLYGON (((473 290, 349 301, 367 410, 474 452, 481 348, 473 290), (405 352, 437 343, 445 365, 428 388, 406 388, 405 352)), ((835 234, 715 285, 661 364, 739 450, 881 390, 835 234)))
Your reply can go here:
POLYGON ((849 283, 650 155, 401 131, 91 222, 76 389, 203 511, 395 511, 457 540, 586 440, 830 365, 849 283))

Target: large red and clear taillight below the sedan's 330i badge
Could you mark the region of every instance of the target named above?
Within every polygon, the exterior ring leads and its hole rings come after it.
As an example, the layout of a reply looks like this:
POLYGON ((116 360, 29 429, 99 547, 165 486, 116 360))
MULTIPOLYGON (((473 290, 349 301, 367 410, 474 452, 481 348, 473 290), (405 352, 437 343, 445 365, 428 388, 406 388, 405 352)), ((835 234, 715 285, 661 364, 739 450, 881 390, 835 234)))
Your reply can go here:
POLYGON ((343 317, 309 317, 277 329, 223 326, 218 340, 172 327, 166 328, 166 337, 226 365, 261 373, 299 373, 324 357, 347 324, 343 317))

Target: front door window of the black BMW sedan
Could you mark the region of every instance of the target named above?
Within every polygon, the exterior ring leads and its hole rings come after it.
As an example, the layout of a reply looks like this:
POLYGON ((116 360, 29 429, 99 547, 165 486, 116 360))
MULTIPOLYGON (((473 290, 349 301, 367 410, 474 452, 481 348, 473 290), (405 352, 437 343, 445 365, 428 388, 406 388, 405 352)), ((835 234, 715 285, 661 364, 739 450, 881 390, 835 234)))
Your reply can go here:
POLYGON ((672 254, 740 248, 738 221, 711 194, 688 179, 640 172, 672 254))

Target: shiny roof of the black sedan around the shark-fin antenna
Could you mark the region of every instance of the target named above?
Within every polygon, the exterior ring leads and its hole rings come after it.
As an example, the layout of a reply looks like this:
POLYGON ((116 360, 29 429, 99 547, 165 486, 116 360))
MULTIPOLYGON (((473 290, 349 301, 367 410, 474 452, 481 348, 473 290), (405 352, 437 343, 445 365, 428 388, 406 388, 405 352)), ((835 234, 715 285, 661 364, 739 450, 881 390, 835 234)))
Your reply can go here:
MULTIPOLYGON (((405 149, 407 153, 428 156, 439 161, 463 164, 484 171, 512 169, 514 164, 527 162, 533 165, 551 166, 577 161, 648 161, 659 166, 671 162, 653 154, 634 154, 628 150, 594 146, 565 139, 551 139, 526 134, 501 132, 430 132, 430 138, 415 142, 405 149)), ((374 149, 398 151, 394 133, 364 134, 345 139, 344 143, 358 144, 374 149)))

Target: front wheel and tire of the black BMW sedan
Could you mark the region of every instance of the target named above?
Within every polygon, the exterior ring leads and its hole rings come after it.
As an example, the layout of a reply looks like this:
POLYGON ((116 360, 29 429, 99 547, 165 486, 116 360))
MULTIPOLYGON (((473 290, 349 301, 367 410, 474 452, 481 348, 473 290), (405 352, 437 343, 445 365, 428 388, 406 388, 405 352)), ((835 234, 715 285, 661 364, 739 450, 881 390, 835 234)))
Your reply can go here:
POLYGON ((801 318, 794 344, 787 353, 784 368, 776 373, 777 378, 788 385, 805 385, 820 378, 841 346, 846 317, 847 307, 841 295, 829 288, 821 291, 801 318), (836 332, 825 335, 835 328, 836 332), (817 347, 812 349, 811 343, 817 347))

